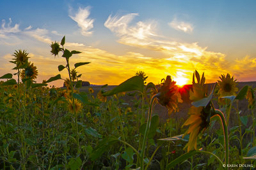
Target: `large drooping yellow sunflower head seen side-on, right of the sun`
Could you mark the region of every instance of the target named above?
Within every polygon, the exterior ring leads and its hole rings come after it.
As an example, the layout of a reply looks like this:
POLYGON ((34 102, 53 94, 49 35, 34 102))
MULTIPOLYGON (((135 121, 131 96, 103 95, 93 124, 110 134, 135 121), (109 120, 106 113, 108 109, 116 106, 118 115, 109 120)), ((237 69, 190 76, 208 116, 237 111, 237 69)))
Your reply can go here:
MULTIPOLYGON (((193 85, 192 89, 189 91, 189 99, 191 101, 198 101, 200 99, 203 99, 204 97, 207 97, 207 88, 204 85, 205 83, 205 78, 204 74, 202 75, 202 78, 200 80, 200 75, 198 74, 197 71, 193 74, 193 85), (195 75, 197 79, 197 83, 195 82, 195 75)), ((198 134, 203 130, 206 129, 209 126, 210 122, 210 110, 211 106, 208 104, 205 108, 200 106, 200 107, 195 107, 191 106, 189 109, 189 118, 186 120, 186 122, 182 125, 189 125, 189 129, 184 133, 183 136, 186 136, 186 134, 190 134, 189 136, 189 141, 187 145, 185 146, 188 147, 188 152, 190 150, 195 149, 196 150, 196 141, 198 134)))

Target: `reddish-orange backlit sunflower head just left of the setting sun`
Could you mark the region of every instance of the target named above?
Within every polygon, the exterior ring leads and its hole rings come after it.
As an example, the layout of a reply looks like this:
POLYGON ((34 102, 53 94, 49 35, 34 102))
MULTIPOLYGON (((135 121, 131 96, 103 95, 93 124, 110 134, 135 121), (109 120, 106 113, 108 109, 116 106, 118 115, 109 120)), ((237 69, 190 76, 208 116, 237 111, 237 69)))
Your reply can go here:
POLYGON ((178 103, 183 102, 179 93, 179 87, 175 83, 170 76, 166 76, 166 80, 155 91, 156 94, 159 94, 157 96, 158 103, 166 106, 169 114, 173 111, 178 111, 178 103))

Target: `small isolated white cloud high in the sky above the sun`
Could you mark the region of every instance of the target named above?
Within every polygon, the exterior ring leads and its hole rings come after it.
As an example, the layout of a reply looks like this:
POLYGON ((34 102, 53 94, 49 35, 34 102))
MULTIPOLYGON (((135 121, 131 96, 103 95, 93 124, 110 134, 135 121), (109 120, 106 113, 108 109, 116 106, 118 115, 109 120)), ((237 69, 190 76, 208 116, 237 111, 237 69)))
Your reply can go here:
POLYGON ((193 32, 194 29, 192 24, 184 21, 179 21, 177 20, 177 18, 174 18, 172 22, 168 23, 168 25, 173 29, 176 29, 178 31, 184 31, 187 33, 193 32))

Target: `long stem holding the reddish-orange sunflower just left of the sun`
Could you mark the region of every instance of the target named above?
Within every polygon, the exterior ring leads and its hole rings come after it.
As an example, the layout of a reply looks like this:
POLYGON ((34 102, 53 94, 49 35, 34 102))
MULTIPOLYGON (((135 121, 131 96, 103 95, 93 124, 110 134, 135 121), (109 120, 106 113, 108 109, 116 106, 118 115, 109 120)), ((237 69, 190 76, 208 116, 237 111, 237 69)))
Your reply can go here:
POLYGON ((141 170, 144 169, 143 164, 144 164, 145 145, 146 145, 148 130, 150 128, 150 122, 151 122, 151 117, 152 117, 152 106, 154 103, 154 99, 156 99, 157 96, 159 96, 159 94, 155 94, 154 96, 152 96, 150 104, 149 104, 148 120, 147 120, 147 125, 146 125, 146 129, 145 129, 144 136, 143 136, 143 142, 142 142, 141 153, 140 153, 140 169, 141 170))

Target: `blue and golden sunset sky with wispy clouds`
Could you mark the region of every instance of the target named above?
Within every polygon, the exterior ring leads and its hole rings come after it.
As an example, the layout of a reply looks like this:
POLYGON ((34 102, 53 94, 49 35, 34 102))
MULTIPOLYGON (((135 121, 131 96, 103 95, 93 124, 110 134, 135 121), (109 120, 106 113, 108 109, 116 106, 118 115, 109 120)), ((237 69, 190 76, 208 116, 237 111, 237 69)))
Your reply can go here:
MULTIPOLYGON (((256 1, 0 1, 0 76, 15 73, 9 61, 26 50, 48 80, 65 58, 51 55, 51 42, 66 38, 70 58, 91 62, 77 68, 81 80, 118 85, 144 71, 147 82, 170 75, 190 83, 195 69, 206 82, 231 74, 256 81, 256 1)), ((13 76, 13 78, 16 78, 13 76)), ((54 82, 60 87, 63 80, 54 82)))

